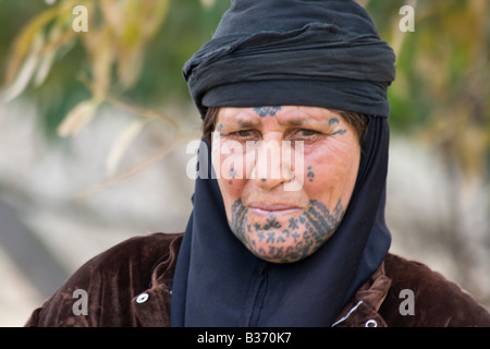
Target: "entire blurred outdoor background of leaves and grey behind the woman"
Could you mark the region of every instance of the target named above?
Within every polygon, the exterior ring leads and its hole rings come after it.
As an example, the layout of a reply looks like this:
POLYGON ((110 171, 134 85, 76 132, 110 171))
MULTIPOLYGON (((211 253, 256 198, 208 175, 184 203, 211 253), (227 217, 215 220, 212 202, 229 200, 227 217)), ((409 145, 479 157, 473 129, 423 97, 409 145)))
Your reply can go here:
MULTIPOLYGON (((397 55, 391 251, 490 306, 490 2, 358 2, 397 55)), ((229 5, 0 0, 0 326, 115 243, 184 230, 200 119, 182 67, 229 5)))

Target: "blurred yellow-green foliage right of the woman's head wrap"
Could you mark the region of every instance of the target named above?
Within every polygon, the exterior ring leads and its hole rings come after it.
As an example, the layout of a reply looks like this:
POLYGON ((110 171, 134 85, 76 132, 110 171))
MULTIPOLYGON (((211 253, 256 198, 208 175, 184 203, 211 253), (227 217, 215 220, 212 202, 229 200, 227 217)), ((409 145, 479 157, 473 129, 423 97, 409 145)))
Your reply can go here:
POLYGON ((416 133, 467 176, 488 176, 490 2, 371 0, 368 11, 397 51, 392 130, 416 133), (387 15, 406 3, 415 8, 414 33, 397 29, 402 15, 387 15))

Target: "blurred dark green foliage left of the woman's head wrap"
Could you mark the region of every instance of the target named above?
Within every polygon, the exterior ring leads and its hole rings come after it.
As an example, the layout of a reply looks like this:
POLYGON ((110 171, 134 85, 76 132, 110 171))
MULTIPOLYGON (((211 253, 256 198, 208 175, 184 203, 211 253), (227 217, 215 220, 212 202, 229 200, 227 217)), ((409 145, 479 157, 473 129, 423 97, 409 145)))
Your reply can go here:
MULTIPOLYGON (((162 0, 157 1, 161 2, 162 0)), ((10 79, 5 79, 5 76, 9 75, 9 63, 15 58, 14 45, 22 35, 22 31, 35 22, 42 12, 69 2, 59 0, 54 4, 48 5, 38 0, 0 0, 0 81, 3 82, 3 87, 8 87, 13 80, 13 76, 10 79)), ((88 7, 90 2, 98 4, 99 1, 72 1, 73 5, 69 3, 66 9, 71 10, 78 3, 88 7)), ((112 2, 114 7, 122 8, 123 3, 128 1, 102 0, 100 2, 112 2)), ((136 0, 134 2, 145 1, 136 0)), ((221 14, 228 7, 228 1, 217 1, 209 5, 203 4, 199 0, 169 1, 169 8, 161 25, 144 47, 142 70, 134 84, 130 86, 118 84, 118 72, 115 67, 111 67, 113 81, 109 86, 110 93, 128 104, 157 109, 164 108, 167 104, 189 103, 182 68, 185 61, 209 40, 221 14)), ((42 84, 39 86, 29 84, 23 92, 23 96, 36 101, 39 113, 42 116, 45 131, 49 136, 56 135, 61 121, 78 103, 87 100, 91 96, 90 89, 82 79, 84 74, 90 75, 94 72, 84 36, 90 40, 96 31, 95 26, 103 27, 106 20, 100 14, 98 5, 94 12, 94 14, 90 13, 87 33, 76 33, 71 43, 56 48, 59 50, 56 61, 42 84), (96 21, 99 23, 95 23, 96 21)), ((65 16, 68 19, 64 31, 70 32, 72 31, 70 20, 73 21, 76 15, 69 11, 65 16)), ((138 20, 143 22, 146 19, 142 16, 138 20)), ((56 22, 56 16, 53 20, 47 21, 46 25, 39 29, 48 33, 53 22, 56 22)), ((120 23, 120 25, 123 26, 124 23, 120 23)), ((127 67, 127 69, 132 69, 132 67, 127 67)))

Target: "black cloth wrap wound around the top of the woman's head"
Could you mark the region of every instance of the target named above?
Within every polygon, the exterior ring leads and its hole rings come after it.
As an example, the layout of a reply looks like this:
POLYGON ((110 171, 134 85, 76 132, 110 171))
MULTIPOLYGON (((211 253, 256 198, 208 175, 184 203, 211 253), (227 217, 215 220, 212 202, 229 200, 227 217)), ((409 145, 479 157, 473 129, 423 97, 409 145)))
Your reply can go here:
POLYGON ((232 1, 185 64, 206 107, 317 106, 388 117, 394 53, 354 1, 232 1))

